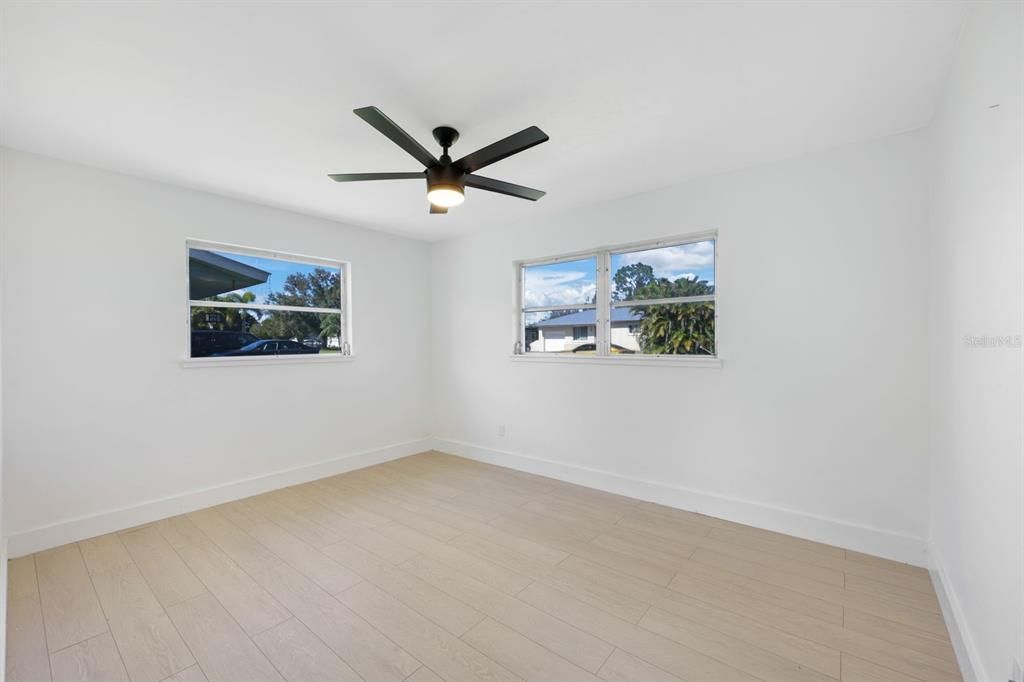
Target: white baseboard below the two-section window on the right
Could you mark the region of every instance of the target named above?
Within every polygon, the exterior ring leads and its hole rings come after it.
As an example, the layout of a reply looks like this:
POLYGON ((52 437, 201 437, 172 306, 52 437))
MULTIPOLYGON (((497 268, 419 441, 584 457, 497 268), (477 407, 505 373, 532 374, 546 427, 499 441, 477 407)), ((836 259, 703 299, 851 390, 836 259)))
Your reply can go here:
POLYGON ((925 540, 882 528, 446 438, 434 438, 433 450, 915 566, 927 566, 929 563, 925 540))

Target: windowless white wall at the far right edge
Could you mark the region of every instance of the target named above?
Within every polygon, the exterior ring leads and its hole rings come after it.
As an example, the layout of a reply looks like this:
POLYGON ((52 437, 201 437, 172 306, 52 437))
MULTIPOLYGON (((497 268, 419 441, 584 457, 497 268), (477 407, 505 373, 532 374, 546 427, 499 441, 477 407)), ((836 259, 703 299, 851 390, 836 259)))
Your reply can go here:
POLYGON ((931 543, 980 680, 1024 663, 1024 355, 965 343, 1024 333, 1022 18, 973 5, 931 130, 931 543))

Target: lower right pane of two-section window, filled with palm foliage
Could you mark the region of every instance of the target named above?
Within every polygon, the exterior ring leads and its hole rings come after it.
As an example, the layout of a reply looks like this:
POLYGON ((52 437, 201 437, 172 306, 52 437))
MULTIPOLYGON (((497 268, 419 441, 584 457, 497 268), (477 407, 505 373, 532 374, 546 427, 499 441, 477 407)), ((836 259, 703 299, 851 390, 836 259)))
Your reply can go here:
POLYGON ((617 345, 644 354, 714 355, 715 303, 613 308, 610 341, 613 350, 617 345))

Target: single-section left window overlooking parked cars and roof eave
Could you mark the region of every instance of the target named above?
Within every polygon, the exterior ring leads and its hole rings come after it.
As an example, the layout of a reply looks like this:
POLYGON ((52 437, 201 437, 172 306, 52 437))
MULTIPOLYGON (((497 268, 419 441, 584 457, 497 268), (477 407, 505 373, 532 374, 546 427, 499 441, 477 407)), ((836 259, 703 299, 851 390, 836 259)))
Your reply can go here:
POLYGON ((188 357, 350 354, 349 266, 189 241, 188 357))

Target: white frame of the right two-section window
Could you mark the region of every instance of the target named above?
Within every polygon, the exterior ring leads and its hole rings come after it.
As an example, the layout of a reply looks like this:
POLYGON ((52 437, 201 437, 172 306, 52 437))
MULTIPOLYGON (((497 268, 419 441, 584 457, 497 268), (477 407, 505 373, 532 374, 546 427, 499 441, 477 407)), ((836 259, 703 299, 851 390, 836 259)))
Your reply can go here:
POLYGON ((708 230, 690 235, 649 240, 644 242, 632 242, 629 244, 616 244, 613 246, 601 246, 586 251, 562 254, 560 256, 546 258, 524 258, 514 261, 516 299, 515 299, 515 344, 513 346, 512 359, 523 363, 568 363, 581 365, 622 365, 622 366, 682 366, 682 367, 702 367, 718 368, 722 366, 721 344, 719 341, 719 235, 718 230, 708 230), (681 296, 666 299, 643 299, 640 301, 612 301, 611 300, 611 257, 633 251, 646 251, 649 249, 662 249, 685 244, 696 244, 713 240, 715 243, 715 293, 708 296, 681 296), (573 304, 554 306, 524 306, 523 294, 523 271, 528 266, 551 265, 554 263, 564 263, 585 258, 595 258, 597 261, 597 301, 596 304, 573 304), (636 307, 641 305, 656 305, 667 303, 697 303, 700 301, 715 302, 715 354, 714 355, 670 355, 670 354, 611 354, 611 310, 616 307, 636 307), (597 326, 596 341, 597 352, 594 355, 573 355, 572 353, 536 353, 526 351, 526 328, 522 324, 523 315, 527 312, 549 312, 554 310, 590 310, 596 309, 597 326))

